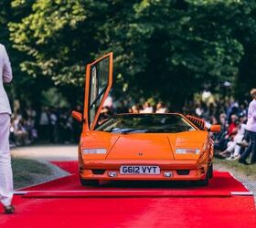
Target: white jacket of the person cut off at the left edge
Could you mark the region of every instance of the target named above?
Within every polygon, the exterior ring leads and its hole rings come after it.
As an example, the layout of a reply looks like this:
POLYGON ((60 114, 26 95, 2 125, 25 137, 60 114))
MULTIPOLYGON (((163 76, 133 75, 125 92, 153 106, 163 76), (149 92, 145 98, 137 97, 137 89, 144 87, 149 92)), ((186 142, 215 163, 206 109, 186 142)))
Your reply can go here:
POLYGON ((0 44, 0 113, 12 113, 4 88, 4 83, 10 83, 12 78, 13 74, 9 57, 5 46, 0 44))

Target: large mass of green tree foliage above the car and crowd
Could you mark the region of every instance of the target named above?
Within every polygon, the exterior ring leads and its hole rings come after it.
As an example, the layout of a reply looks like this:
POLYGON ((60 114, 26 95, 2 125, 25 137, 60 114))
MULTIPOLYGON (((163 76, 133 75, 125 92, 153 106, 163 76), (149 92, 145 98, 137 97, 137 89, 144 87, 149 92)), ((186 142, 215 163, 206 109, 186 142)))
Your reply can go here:
POLYGON ((21 69, 61 88, 82 85, 84 65, 108 51, 116 97, 179 107, 206 84, 214 90, 236 78, 244 98, 255 83, 252 0, 16 0, 12 7, 23 12, 8 20, 13 46, 26 55, 21 69))

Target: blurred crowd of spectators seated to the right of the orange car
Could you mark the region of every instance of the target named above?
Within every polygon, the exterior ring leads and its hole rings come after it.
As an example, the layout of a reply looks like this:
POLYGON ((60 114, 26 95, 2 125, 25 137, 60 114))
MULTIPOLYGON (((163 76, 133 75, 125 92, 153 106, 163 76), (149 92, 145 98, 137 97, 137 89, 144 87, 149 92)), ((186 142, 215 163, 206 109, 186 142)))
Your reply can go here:
MULTIPOLYGON (((233 98, 214 100, 212 96, 196 103, 189 103, 184 112, 205 119, 210 124, 220 124, 221 131, 212 135, 215 140, 215 156, 219 159, 241 160, 250 144, 249 131, 246 130, 249 102, 239 103, 233 98)), ((251 161, 251 163, 254 163, 251 161)))

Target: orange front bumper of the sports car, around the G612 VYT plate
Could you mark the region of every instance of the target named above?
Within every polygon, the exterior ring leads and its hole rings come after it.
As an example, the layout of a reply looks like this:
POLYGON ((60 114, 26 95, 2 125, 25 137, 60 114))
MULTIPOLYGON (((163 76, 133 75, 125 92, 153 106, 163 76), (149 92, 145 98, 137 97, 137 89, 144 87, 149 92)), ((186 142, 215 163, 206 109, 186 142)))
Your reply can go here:
POLYGON ((198 161, 80 161, 80 178, 101 181, 197 181, 205 179, 208 163, 198 161), (160 174, 122 174, 122 165, 155 165, 160 167, 160 174), (95 174, 95 171, 102 171, 95 174), (110 177, 109 172, 116 172, 110 177), (171 177, 165 177, 165 171, 171 171, 171 177), (182 171, 188 171, 186 174, 182 171))

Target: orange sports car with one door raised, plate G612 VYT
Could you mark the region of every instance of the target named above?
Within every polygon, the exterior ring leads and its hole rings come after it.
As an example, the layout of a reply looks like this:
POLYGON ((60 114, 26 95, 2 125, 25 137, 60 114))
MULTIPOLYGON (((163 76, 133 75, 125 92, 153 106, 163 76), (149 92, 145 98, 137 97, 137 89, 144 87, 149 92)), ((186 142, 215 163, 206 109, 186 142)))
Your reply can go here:
POLYGON ((102 180, 195 181, 212 177, 213 140, 204 120, 178 113, 119 114, 104 121, 101 109, 112 87, 112 53, 86 68, 79 145, 80 182, 102 180))

